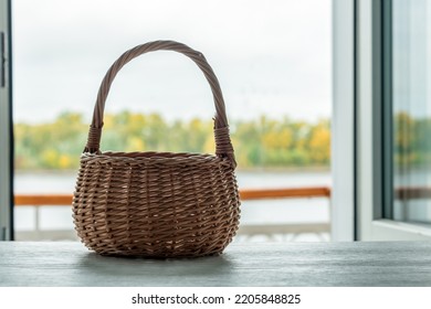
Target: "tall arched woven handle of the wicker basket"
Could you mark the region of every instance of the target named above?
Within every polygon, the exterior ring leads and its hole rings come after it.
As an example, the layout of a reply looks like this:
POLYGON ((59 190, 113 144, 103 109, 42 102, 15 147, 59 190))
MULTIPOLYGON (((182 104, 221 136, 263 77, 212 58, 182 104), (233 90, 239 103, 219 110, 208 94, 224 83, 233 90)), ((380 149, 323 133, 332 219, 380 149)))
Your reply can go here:
POLYGON ((208 83, 210 84, 212 95, 216 105, 214 117, 214 137, 216 137, 216 154, 222 158, 229 158, 236 167, 233 147, 229 134, 228 117, 225 116, 225 107, 223 95, 221 93, 219 81, 216 77, 214 72, 208 64, 202 53, 197 52, 189 46, 175 42, 175 41, 154 41, 143 45, 138 45, 132 50, 125 52, 114 64, 109 67, 105 77, 102 81, 101 87, 97 94, 96 105, 93 111, 93 120, 90 126, 88 139, 85 146, 84 152, 101 153, 101 137, 103 127, 103 115, 105 110, 106 97, 109 93, 111 85, 119 72, 119 70, 133 58, 154 51, 166 50, 181 53, 191 58, 202 71, 208 83))

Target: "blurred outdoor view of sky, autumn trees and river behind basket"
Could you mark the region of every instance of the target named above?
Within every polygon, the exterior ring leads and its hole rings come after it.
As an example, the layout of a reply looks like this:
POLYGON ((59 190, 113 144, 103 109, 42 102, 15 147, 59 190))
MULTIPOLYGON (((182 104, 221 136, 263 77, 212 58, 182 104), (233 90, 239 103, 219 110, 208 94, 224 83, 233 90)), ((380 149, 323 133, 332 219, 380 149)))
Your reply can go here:
MULTIPOLYGON (((328 192, 330 0, 20 0, 12 9, 15 194, 73 193, 105 72, 155 40, 186 43, 213 67, 240 189, 328 192)), ((148 53, 114 81, 101 149, 213 153, 213 114, 210 87, 190 60, 148 53)), ((328 241, 328 194, 304 194, 244 200, 241 225, 264 239, 328 241)), ((20 205, 15 227, 21 238, 59 238, 73 232, 70 203, 20 205)))

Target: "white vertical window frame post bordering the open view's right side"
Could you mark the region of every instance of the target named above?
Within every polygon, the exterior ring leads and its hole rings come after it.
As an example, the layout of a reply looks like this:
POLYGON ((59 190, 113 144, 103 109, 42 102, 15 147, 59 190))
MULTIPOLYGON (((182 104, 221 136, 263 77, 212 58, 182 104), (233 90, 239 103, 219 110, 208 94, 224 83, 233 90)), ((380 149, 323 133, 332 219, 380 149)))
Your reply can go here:
POLYGON ((355 239, 355 0, 333 0, 332 239, 355 239))

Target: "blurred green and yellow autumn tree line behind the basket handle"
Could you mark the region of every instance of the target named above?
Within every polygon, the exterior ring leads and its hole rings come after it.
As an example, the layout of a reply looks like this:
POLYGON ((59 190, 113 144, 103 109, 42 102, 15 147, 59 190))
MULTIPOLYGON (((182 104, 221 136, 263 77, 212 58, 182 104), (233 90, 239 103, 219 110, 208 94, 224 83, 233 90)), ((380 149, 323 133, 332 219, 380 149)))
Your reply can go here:
MULTIPOLYGON (((102 150, 214 152, 212 121, 167 122, 160 115, 122 111, 105 115, 102 150)), ((231 125, 240 168, 328 166, 329 121, 317 124, 270 119, 231 125)), ((15 124, 17 169, 77 169, 88 124, 64 113, 53 122, 15 124)))

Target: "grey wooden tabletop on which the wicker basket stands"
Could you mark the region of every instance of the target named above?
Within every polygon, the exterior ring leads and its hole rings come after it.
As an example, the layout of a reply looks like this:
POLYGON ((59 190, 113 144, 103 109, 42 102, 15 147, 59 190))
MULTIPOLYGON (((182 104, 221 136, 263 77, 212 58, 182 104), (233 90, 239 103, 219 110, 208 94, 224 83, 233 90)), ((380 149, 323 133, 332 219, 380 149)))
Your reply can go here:
POLYGON ((0 286, 431 286, 431 242, 233 243, 220 256, 168 260, 0 242, 0 286))

